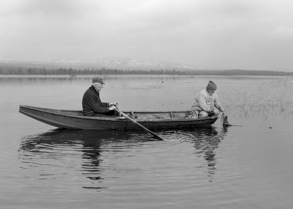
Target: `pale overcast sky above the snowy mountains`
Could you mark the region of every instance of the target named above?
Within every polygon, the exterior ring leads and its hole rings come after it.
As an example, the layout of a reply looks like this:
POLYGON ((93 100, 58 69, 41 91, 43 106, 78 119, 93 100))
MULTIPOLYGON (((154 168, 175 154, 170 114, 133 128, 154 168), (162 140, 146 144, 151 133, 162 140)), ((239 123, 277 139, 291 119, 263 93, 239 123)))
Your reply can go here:
POLYGON ((292 0, 0 0, 0 57, 293 69, 292 0))

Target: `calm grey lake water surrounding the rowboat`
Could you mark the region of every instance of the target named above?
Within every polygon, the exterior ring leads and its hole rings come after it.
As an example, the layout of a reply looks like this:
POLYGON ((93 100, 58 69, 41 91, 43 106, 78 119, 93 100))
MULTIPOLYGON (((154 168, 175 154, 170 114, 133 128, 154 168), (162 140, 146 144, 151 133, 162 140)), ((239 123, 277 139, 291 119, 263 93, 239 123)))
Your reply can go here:
MULTIPOLYGON (((143 130, 59 130, 18 106, 80 110, 92 78, 0 78, 0 208, 293 208, 292 107, 243 115, 224 94, 286 78, 160 78, 104 76, 101 100, 189 110, 212 79, 238 126, 152 130, 163 141, 143 130)), ((292 80, 278 85, 292 90, 292 80)))

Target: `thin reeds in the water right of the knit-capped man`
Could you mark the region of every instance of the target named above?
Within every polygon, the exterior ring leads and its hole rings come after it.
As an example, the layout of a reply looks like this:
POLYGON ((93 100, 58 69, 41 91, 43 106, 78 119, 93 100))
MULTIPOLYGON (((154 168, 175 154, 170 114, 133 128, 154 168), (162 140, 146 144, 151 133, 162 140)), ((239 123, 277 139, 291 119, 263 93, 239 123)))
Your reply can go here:
POLYGON ((222 97, 227 112, 233 116, 262 116, 282 114, 285 118, 293 114, 292 82, 266 81, 260 84, 251 83, 243 87, 219 88, 218 95, 222 97))

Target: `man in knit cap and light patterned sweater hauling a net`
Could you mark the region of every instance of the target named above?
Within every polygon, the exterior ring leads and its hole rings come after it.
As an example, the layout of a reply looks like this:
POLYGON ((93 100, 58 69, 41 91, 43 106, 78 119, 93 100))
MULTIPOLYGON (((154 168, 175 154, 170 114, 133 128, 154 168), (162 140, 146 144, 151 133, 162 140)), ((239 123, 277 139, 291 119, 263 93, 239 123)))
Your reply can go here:
POLYGON ((200 91, 195 98, 190 109, 190 118, 206 118, 212 113, 219 114, 224 111, 224 108, 218 100, 218 95, 215 93, 217 89, 216 83, 209 81, 207 87, 200 91))

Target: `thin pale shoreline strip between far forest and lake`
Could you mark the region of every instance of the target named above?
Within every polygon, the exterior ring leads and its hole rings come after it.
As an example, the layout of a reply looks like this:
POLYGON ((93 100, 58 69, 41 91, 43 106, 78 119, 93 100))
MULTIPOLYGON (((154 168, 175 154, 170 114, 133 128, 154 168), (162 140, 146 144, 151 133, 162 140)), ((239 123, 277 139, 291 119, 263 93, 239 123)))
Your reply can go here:
POLYGON ((291 77, 291 76, 260 76, 260 75, 125 75, 125 74, 119 74, 119 75, 14 75, 14 74, 0 74, 0 78, 93 78, 93 77, 110 77, 110 78, 118 78, 118 77, 129 77, 129 78, 135 78, 135 77, 162 77, 162 78, 170 78, 170 77, 185 77, 185 78, 193 78, 193 77, 291 77))

